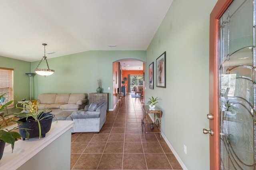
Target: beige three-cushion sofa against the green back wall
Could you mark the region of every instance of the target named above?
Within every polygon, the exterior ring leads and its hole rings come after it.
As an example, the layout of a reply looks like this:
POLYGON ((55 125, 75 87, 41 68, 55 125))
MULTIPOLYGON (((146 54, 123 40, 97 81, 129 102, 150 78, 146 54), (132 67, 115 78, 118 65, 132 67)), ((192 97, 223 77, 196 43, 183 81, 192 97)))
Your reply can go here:
POLYGON ((54 114, 62 111, 78 111, 84 109, 87 102, 85 97, 85 93, 40 94, 37 99, 38 109, 51 109, 54 114))

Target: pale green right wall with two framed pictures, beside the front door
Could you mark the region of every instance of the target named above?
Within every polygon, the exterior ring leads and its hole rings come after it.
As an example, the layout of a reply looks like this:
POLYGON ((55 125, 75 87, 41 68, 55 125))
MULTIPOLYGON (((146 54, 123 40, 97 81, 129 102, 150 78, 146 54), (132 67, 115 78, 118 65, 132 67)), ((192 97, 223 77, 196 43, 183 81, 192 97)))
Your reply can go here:
POLYGON ((145 99, 159 97, 162 132, 189 170, 207 170, 209 135, 209 23, 217 0, 174 0, 147 53, 145 99), (166 88, 156 87, 156 58, 166 51, 166 88), (148 65, 154 61, 154 89, 148 65), (183 152, 183 145, 187 154, 183 152))

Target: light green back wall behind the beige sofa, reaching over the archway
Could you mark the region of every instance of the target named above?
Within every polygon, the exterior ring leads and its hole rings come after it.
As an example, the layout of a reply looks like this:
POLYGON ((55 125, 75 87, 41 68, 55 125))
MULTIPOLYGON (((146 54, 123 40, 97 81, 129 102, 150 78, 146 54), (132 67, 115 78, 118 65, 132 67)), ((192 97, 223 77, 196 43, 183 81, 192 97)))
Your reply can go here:
MULTIPOLYGON (((37 99, 40 93, 86 93, 88 98, 89 93, 96 93, 97 79, 101 79, 103 93, 110 93, 109 109, 113 109, 112 65, 114 61, 126 58, 146 61, 146 51, 85 51, 47 59, 50 69, 55 72, 46 77, 33 77, 33 97, 37 99)), ((38 63, 31 63, 32 72, 38 63)), ((46 66, 40 65, 40 68, 46 66)))

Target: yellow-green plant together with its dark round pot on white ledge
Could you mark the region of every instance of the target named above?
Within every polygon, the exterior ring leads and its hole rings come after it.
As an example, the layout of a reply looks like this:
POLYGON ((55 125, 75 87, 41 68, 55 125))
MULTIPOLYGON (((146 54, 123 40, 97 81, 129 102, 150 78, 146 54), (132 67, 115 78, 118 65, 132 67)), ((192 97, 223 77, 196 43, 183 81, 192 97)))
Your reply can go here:
MULTIPOLYGON (((17 103, 18 104, 18 103, 17 103)), ((17 107, 17 109, 24 109, 23 107, 17 107)), ((23 114, 23 118, 19 119, 19 131, 22 137, 22 140, 25 138, 34 138, 38 137, 41 138, 45 137, 45 134, 49 132, 52 119, 55 117, 54 114, 50 114, 48 109, 38 110, 39 103, 36 105, 29 105, 28 103, 24 103, 25 106, 25 113, 23 114)))

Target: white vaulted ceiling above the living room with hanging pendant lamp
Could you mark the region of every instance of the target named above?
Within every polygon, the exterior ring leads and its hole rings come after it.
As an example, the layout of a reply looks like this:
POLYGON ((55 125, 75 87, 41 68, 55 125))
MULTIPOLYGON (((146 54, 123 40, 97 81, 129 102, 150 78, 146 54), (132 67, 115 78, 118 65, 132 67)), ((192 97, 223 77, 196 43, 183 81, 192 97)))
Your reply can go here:
POLYGON ((38 61, 42 43, 48 44, 48 58, 89 50, 146 50, 172 1, 0 0, 0 55, 38 61))

